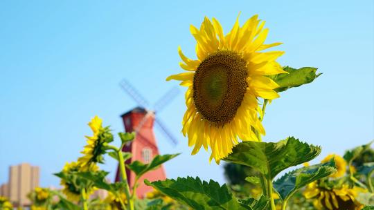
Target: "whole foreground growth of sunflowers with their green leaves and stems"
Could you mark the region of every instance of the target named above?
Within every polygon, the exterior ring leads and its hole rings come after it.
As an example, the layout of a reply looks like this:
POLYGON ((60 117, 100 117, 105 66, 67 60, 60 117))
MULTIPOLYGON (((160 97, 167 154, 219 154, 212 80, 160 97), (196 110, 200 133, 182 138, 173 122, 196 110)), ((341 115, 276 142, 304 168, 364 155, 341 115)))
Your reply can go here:
MULTIPOLYGON (((330 154, 319 164, 309 164, 321 146, 297 137, 263 142, 262 120, 279 93, 310 84, 321 76, 315 67, 292 68, 278 64, 280 42, 265 44, 269 30, 254 15, 240 26, 239 17, 228 33, 220 22, 206 17, 199 28, 190 26, 196 39, 196 59, 178 48, 183 73, 170 75, 186 88, 186 112, 181 133, 192 155, 204 148, 211 164, 224 166, 227 183, 199 177, 166 179, 145 184, 154 191, 136 196, 137 181, 178 153, 156 155, 149 163, 125 164, 123 152, 136 133, 114 135, 103 120, 89 122, 92 134, 75 162, 55 173, 61 191, 37 188, 29 194, 30 209, 374 209, 374 151, 371 143, 348 149, 343 157, 330 154), (121 145, 114 145, 114 138, 121 145), (118 161, 121 181, 109 183, 100 169, 105 156, 118 161), (136 175, 133 187, 126 169, 136 175), (97 189, 105 199, 91 199, 97 189)), ((12 209, 0 198, 0 209, 12 209)))

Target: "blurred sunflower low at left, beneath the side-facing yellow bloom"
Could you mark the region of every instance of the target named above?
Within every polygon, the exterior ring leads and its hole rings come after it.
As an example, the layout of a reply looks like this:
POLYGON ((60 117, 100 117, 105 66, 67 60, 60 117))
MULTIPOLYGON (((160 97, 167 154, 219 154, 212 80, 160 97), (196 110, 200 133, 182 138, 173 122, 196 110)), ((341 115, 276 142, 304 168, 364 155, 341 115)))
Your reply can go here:
MULTIPOLYGON (((62 169, 62 173, 65 173, 67 178, 61 179, 60 184, 64 187, 62 189, 62 193, 66 195, 66 198, 68 198, 68 200, 80 200, 82 191, 79 186, 80 181, 78 178, 72 178, 71 176, 71 173, 78 171, 82 171, 81 166, 78 162, 66 163, 64 169, 62 169)), ((98 171, 98 166, 95 164, 89 166, 89 171, 98 171)), ((94 190, 94 188, 89 187, 87 190, 87 196, 91 195, 91 193, 94 193, 94 190)))

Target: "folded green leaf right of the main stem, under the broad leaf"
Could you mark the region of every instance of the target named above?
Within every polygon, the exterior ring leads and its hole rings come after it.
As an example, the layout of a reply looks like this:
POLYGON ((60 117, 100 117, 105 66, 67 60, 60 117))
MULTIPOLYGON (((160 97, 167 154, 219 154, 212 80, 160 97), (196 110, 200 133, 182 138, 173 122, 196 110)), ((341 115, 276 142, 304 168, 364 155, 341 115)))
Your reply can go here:
POLYGON ((305 187, 307 184, 325 178, 328 175, 337 172, 334 160, 323 164, 305 166, 286 173, 273 183, 283 200, 288 199, 293 193, 305 187))

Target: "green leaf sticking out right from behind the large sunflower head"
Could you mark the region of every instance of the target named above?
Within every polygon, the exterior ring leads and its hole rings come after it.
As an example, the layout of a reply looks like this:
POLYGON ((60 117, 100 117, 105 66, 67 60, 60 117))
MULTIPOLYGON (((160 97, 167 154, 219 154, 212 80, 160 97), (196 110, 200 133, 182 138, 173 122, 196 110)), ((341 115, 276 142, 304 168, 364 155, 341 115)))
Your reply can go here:
POLYGON ((288 66, 285 66, 283 70, 287 71, 287 73, 278 74, 271 79, 276 82, 276 84, 279 85, 278 88, 276 88, 276 92, 282 92, 287 90, 288 88, 294 88, 299 87, 303 84, 308 84, 310 82, 313 82, 314 79, 319 77, 321 73, 316 74, 317 68, 313 67, 303 67, 303 68, 291 68, 288 66))

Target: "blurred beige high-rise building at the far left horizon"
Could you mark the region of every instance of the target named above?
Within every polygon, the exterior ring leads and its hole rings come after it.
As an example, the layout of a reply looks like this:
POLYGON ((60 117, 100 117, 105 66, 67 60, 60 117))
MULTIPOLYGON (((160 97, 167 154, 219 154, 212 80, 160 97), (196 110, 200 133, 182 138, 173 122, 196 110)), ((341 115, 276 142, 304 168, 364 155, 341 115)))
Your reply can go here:
POLYGON ((0 195, 9 198, 16 207, 30 205, 27 194, 39 187, 39 166, 21 163, 9 166, 8 183, 1 184, 0 195))

